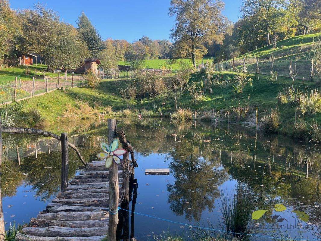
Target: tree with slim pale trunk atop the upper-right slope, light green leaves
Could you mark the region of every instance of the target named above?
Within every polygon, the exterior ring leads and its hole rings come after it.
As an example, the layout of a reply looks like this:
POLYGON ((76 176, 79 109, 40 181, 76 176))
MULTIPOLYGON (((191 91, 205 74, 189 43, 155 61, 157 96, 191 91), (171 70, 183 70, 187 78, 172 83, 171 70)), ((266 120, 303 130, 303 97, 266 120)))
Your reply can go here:
POLYGON ((286 0, 243 0, 241 13, 243 18, 256 15, 257 23, 261 25, 266 34, 266 43, 271 44, 270 34, 273 22, 280 17, 279 10, 286 6, 286 0))

